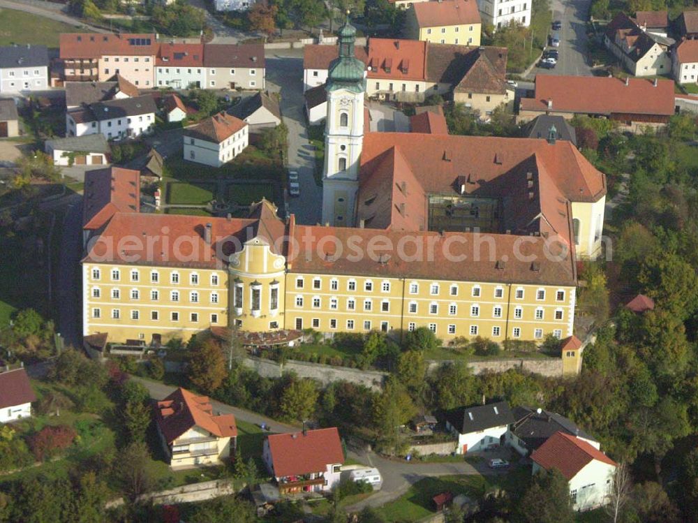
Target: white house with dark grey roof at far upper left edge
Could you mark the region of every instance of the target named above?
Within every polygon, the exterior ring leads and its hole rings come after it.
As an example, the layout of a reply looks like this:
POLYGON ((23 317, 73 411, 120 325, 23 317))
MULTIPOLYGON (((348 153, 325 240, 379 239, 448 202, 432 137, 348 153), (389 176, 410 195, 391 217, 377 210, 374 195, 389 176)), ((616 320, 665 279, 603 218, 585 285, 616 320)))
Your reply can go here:
POLYGON ((47 89, 48 50, 45 45, 0 47, 0 94, 47 89))

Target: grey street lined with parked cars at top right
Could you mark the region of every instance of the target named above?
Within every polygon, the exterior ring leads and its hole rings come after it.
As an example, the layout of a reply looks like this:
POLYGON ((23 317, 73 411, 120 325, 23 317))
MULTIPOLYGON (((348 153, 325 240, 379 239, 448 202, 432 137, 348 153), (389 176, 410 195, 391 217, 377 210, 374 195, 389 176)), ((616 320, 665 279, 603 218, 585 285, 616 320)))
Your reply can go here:
POLYGON ((588 20, 591 0, 552 0, 553 20, 560 20, 563 28, 552 31, 560 36, 558 64, 554 69, 536 67, 532 75, 591 76, 591 67, 586 60, 588 20))

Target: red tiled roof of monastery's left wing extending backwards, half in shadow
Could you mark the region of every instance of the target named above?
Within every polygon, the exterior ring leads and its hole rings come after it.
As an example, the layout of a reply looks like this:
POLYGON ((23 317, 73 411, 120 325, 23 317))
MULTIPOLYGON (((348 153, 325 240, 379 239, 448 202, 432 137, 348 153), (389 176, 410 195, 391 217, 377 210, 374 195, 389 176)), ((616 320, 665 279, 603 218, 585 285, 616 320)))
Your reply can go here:
POLYGON ((101 228, 117 212, 140 211, 140 172, 121 167, 87 171, 82 227, 101 228))

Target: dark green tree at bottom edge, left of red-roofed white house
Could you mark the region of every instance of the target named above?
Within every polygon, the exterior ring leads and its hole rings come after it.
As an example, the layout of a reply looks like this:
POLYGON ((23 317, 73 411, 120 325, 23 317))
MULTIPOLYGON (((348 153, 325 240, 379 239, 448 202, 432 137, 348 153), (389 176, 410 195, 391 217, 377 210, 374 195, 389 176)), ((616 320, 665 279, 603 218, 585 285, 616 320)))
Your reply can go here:
POLYGON ((517 507, 519 520, 526 523, 573 523, 570 487, 565 476, 552 469, 533 476, 517 507))

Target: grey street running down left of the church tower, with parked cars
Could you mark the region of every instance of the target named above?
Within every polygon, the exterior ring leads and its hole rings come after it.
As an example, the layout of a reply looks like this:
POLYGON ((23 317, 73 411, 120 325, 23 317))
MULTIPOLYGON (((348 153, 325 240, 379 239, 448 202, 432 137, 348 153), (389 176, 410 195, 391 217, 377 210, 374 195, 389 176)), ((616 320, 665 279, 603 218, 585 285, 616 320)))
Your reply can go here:
POLYGON ((303 98, 302 50, 267 53, 267 89, 281 92, 281 115, 288 127, 288 168, 298 171, 300 196, 288 198, 296 223, 322 221, 322 187, 315 184, 315 149, 308 141, 303 98))

